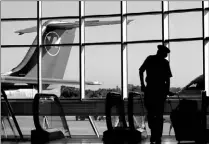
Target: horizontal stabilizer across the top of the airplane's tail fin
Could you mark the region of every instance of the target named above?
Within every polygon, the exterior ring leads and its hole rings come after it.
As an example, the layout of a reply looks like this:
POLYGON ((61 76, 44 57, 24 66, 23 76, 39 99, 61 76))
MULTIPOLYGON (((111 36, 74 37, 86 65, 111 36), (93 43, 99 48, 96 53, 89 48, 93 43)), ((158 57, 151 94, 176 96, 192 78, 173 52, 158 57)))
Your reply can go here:
MULTIPOLYGON (((129 24, 133 20, 128 20, 127 24, 129 24)), ((85 26, 102 26, 102 25, 114 25, 114 24, 120 24, 120 20, 113 20, 113 21, 99 21, 99 20, 93 20, 93 21, 85 21, 85 26)), ((53 27, 56 29, 72 29, 79 27, 79 21, 76 21, 74 23, 72 22, 66 22, 66 21, 48 21, 43 26, 47 27, 53 27)), ((37 32, 37 27, 30 27, 22 30, 15 31, 15 33, 18 33, 19 35, 22 35, 24 33, 32 33, 37 32)))

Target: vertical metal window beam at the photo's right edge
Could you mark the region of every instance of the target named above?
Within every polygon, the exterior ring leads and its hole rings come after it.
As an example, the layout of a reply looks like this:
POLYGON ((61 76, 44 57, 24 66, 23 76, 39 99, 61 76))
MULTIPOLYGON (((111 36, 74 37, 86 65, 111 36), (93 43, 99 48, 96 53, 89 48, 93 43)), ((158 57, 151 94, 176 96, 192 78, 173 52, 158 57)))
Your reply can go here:
POLYGON ((203 7, 203 73, 205 76, 205 91, 206 95, 209 96, 209 11, 206 10, 209 7, 209 1, 202 1, 203 7))

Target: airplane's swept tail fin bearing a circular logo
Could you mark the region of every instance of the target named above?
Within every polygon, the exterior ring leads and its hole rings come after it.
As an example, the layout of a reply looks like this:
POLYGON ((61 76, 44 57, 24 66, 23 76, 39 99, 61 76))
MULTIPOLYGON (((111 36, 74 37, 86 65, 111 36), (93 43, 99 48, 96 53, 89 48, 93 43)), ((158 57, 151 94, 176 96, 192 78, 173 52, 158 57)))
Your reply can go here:
MULTIPOLYGON (((27 33, 25 29, 18 31, 20 34, 27 33)), ((43 44, 73 43, 75 38, 75 28, 55 28, 48 24, 43 31, 43 44)), ((33 45, 37 44, 37 37, 33 45)), ((42 47, 42 77, 62 79, 68 62, 72 46, 45 46, 42 47)), ((38 48, 31 47, 22 62, 12 69, 11 76, 37 77, 38 48)))

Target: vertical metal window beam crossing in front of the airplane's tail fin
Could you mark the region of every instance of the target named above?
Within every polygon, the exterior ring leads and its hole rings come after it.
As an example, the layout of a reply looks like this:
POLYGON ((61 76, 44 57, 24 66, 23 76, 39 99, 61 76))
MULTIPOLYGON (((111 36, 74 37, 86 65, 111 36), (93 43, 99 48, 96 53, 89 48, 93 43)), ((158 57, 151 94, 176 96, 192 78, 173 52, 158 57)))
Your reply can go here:
POLYGON ((38 93, 42 92, 42 80, 41 80, 41 60, 42 60, 42 1, 37 1, 37 48, 38 48, 38 68, 37 68, 37 76, 38 76, 38 93))

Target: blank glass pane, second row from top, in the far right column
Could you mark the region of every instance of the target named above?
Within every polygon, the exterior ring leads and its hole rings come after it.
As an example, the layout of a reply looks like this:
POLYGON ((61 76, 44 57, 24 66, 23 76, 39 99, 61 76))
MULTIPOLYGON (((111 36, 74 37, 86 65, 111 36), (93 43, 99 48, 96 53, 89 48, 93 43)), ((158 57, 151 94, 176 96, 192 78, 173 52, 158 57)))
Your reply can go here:
POLYGON ((169 20, 170 38, 202 36, 201 12, 170 14, 169 20))

